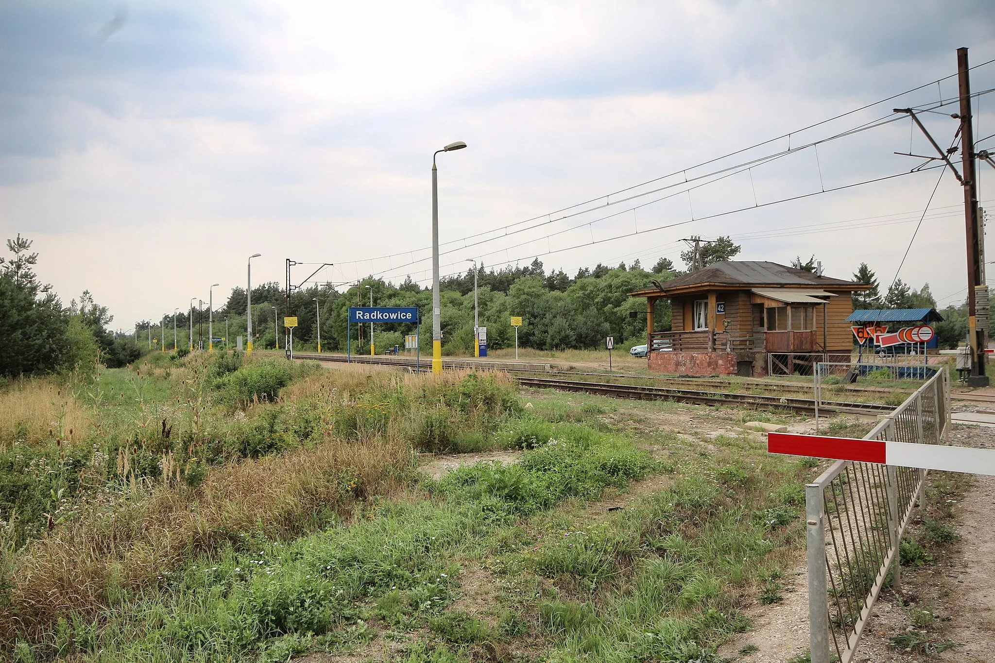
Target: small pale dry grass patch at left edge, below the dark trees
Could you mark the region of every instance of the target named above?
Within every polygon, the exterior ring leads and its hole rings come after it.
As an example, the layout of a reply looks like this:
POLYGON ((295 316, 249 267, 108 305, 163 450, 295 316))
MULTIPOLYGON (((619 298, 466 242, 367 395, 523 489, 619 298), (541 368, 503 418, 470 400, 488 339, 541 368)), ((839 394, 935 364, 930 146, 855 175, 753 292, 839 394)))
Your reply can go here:
POLYGON ((92 423, 89 409, 55 379, 25 378, 0 391, 0 450, 19 437, 82 440, 92 423))

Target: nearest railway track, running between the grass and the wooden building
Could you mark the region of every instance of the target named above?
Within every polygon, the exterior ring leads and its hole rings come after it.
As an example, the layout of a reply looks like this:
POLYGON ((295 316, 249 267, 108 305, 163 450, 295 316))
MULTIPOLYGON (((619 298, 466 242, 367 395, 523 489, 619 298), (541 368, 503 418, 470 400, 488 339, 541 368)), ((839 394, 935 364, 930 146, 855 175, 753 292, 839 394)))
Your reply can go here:
MULTIPOLYGON (((347 360, 340 355, 314 355, 298 354, 298 359, 310 359, 321 362, 345 363, 347 360)), ((380 366, 396 366, 398 368, 414 369, 415 362, 401 357, 353 357, 352 363, 374 364, 380 366)), ((540 368, 520 368, 520 366, 543 366, 543 365, 516 365, 510 362, 501 364, 498 362, 475 362, 468 360, 443 360, 444 368, 487 368, 491 370, 502 370, 508 373, 517 374, 557 374, 563 372, 552 371, 540 368)), ((419 369, 422 371, 431 370, 431 360, 420 362, 419 369)), ((602 374, 572 374, 595 376, 605 378, 602 374)), ((621 376, 620 376, 621 377, 621 376)), ((636 379, 644 379, 643 376, 626 376, 636 379)), ((698 405, 739 405, 757 409, 779 409, 791 410, 801 413, 814 413, 815 401, 808 398, 788 397, 770 394, 751 394, 739 392, 723 392, 720 390, 687 389, 676 385, 667 387, 651 387, 646 385, 625 385, 611 384, 605 382, 593 382, 589 380, 567 380, 562 378, 538 378, 534 375, 515 375, 514 379, 523 387, 538 389, 556 389, 566 392, 583 392, 586 394, 598 394, 614 398, 636 399, 643 401, 679 401, 682 403, 694 403, 698 405)), ((653 378, 651 378, 653 379, 653 378)), ((666 380, 666 379, 662 379, 666 380)), ((679 384, 689 381, 676 381, 679 384)), ((728 383, 724 383, 727 385, 728 383)), ((697 385, 696 385, 697 386, 697 385)), ((750 385, 752 387, 752 385, 750 385)), ((769 385, 768 387, 777 387, 769 385)), ((820 412, 836 412, 850 414, 887 414, 894 410, 891 406, 876 403, 848 403, 842 401, 823 401, 819 406, 820 412)))

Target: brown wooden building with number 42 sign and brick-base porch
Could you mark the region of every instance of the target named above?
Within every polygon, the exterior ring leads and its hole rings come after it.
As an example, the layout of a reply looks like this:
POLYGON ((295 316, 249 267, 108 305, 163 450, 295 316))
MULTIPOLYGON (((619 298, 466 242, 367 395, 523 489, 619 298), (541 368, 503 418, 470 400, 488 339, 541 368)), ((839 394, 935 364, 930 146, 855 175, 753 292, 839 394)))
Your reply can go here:
POLYGON ((870 286, 759 260, 725 260, 653 285, 647 300, 650 370, 677 375, 790 375, 813 362, 849 362, 851 293, 870 286), (671 300, 671 331, 653 305, 671 300))

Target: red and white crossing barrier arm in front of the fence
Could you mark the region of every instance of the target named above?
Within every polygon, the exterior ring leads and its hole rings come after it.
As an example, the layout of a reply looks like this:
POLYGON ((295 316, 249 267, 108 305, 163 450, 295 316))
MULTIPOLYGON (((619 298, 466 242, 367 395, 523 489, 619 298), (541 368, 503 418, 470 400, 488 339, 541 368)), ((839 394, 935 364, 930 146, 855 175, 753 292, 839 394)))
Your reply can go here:
POLYGON ((968 446, 768 432, 767 451, 793 456, 920 467, 944 472, 995 475, 995 449, 975 449, 968 446))

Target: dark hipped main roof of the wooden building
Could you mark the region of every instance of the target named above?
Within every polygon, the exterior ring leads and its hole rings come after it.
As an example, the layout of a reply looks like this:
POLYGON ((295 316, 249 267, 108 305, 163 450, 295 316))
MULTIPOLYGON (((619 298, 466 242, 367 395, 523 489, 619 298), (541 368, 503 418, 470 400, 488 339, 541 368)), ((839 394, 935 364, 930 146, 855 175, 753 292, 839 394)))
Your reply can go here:
MULTIPOLYGON (((762 287, 765 285, 845 286, 847 289, 865 289, 866 287, 860 283, 841 278, 817 276, 810 271, 789 267, 784 264, 778 264, 777 262, 768 262, 766 260, 723 260, 721 262, 713 262, 697 271, 665 281, 662 283, 663 288, 657 291, 666 294, 681 288, 706 283, 752 287, 762 287)), ((644 291, 640 290, 640 293, 642 292, 644 291)))

